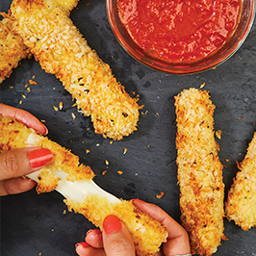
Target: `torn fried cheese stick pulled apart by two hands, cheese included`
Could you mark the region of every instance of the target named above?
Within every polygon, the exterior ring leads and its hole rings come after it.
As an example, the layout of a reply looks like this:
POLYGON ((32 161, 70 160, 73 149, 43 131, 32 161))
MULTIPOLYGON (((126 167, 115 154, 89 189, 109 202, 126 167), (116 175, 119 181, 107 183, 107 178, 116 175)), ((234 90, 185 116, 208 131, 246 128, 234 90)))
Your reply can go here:
POLYGON ((79 164, 77 156, 21 122, 0 115, 0 152, 25 146, 45 147, 53 153, 50 164, 28 175, 38 182, 38 193, 61 192, 69 211, 84 215, 101 229, 103 219, 114 214, 129 229, 138 256, 155 255, 161 243, 166 242, 166 228, 160 222, 142 213, 132 201, 100 189, 92 180, 90 166, 79 164))

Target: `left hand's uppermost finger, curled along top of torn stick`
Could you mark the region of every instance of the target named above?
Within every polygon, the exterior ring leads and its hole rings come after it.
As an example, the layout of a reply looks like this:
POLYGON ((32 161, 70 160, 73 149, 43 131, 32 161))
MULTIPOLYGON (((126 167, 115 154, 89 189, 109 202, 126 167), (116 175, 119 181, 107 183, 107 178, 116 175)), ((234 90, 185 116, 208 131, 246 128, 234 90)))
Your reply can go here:
POLYGON ((36 116, 30 114, 27 111, 0 103, 0 114, 10 116, 17 119, 18 121, 21 121, 27 127, 33 128, 39 134, 48 134, 48 129, 46 126, 41 123, 36 116))

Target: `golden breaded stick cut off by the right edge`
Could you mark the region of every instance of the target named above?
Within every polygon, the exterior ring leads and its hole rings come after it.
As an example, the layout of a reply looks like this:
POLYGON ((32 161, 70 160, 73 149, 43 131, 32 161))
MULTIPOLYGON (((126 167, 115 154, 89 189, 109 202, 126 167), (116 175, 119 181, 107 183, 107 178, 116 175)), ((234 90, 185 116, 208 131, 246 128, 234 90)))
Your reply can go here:
POLYGON ((228 192, 225 215, 243 230, 248 230, 256 225, 256 133, 238 167, 241 171, 228 192))

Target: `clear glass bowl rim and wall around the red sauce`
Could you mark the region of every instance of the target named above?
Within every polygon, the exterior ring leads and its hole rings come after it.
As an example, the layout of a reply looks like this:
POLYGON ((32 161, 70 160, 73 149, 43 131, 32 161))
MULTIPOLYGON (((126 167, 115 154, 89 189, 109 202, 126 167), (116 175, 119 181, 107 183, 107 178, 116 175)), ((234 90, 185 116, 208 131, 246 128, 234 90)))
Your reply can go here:
POLYGON ((122 26, 116 7, 117 0, 107 0, 107 13, 115 38, 123 48, 141 64, 171 74, 192 74, 210 69, 228 60, 243 44, 252 27, 255 16, 255 0, 243 0, 241 21, 232 38, 223 45, 216 54, 193 64, 170 64, 148 56, 129 36, 122 26))

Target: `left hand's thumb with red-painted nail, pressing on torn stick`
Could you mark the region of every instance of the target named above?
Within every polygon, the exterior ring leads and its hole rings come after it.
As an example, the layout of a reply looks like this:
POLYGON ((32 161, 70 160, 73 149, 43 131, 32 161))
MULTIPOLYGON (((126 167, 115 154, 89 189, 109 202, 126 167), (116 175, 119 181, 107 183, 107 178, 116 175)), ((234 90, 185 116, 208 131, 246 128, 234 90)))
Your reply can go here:
POLYGON ((18 148, 0 154, 0 180, 27 175, 51 162, 53 155, 46 148, 18 148))

